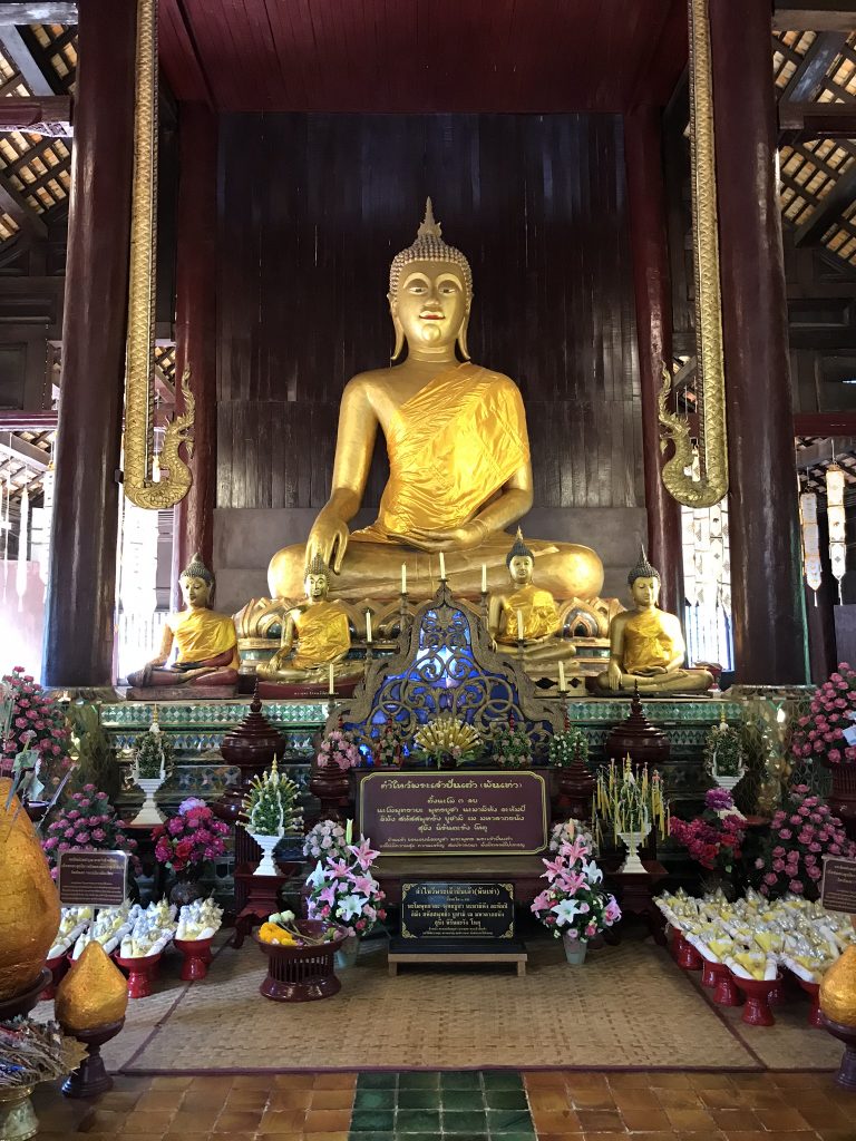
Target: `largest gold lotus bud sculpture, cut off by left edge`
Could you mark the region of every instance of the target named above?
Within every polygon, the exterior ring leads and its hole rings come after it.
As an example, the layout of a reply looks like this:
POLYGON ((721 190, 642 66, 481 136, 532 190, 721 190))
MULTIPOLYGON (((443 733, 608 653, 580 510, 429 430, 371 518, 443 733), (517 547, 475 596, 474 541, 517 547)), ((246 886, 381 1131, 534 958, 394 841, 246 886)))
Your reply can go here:
POLYGON ((11 782, 0 778, 0 1001, 39 981, 59 929, 59 896, 11 782), (7 803, 8 802, 8 803, 7 803))

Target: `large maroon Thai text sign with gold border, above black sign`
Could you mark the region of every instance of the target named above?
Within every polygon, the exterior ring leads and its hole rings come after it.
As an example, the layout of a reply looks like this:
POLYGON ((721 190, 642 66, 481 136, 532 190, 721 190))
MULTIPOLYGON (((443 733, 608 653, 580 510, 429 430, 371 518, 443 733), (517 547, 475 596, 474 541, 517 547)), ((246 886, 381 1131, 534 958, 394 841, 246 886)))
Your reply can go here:
POLYGON ((547 847, 547 786, 525 770, 371 772, 360 828, 387 856, 528 855, 547 847))

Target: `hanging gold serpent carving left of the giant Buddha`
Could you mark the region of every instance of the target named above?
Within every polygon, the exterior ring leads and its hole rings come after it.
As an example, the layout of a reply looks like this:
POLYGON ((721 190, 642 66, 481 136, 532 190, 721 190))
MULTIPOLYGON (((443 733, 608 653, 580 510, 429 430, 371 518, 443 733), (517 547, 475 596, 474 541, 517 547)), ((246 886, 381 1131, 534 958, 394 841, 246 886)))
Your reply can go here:
POLYGON ((124 494, 137 507, 163 510, 187 494, 192 476, 179 459, 181 444, 192 455, 194 400, 189 369, 181 377, 185 412, 167 426, 160 454, 160 482, 152 479, 154 459, 154 299, 158 240, 158 3, 137 6, 137 80, 134 112, 128 362, 124 382, 124 494))

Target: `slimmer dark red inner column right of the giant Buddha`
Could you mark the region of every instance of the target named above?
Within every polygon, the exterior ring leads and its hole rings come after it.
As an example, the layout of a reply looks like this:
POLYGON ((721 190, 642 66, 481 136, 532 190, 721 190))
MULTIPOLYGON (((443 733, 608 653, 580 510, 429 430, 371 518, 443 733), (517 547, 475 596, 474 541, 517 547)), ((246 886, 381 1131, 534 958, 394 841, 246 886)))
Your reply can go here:
POLYGON ((639 345, 648 557, 663 578, 661 605, 684 621, 680 504, 660 477, 657 397, 663 363, 671 364, 672 322, 665 226, 661 113, 640 107, 624 118, 624 154, 633 251, 636 335, 639 345))

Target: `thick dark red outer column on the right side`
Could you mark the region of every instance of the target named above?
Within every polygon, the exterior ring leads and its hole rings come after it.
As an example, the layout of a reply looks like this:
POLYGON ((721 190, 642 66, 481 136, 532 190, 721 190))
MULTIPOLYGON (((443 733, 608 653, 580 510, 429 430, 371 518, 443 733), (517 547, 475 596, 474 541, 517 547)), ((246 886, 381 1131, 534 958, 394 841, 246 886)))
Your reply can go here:
POLYGON ((805 682, 769 0, 711 0, 737 680, 805 682))

